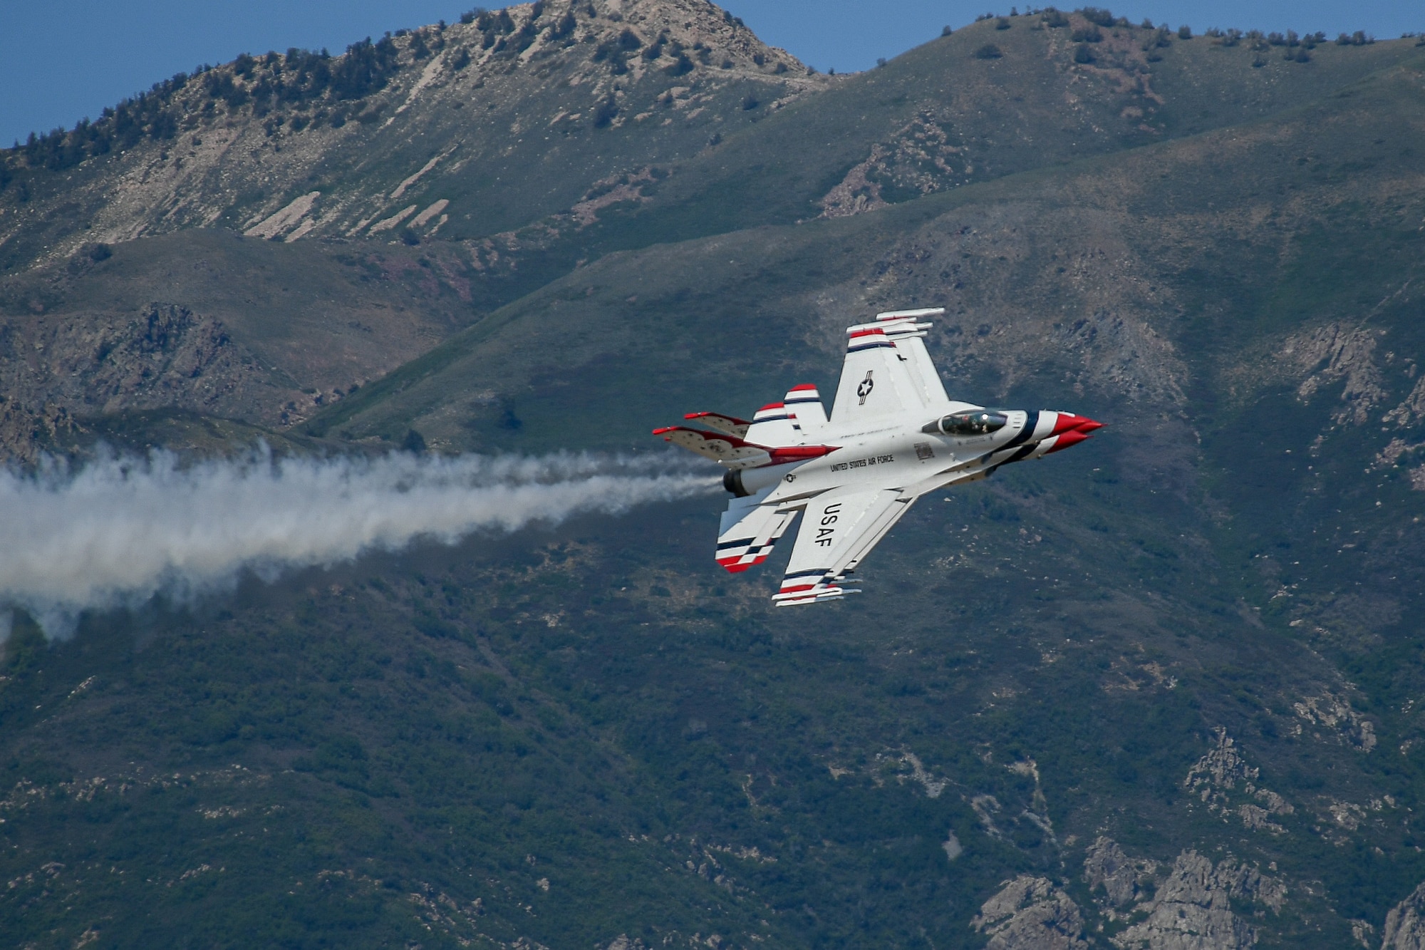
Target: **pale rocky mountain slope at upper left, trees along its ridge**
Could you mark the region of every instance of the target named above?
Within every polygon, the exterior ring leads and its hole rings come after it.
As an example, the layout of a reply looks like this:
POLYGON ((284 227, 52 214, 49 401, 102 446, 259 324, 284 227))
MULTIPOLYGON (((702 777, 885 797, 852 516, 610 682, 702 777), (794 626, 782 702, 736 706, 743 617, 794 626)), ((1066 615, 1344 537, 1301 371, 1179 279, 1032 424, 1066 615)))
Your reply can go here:
POLYGON ((581 220, 621 178, 826 83, 697 0, 519 4, 336 57, 245 57, 11 154, 3 264, 195 227, 296 241, 581 220))

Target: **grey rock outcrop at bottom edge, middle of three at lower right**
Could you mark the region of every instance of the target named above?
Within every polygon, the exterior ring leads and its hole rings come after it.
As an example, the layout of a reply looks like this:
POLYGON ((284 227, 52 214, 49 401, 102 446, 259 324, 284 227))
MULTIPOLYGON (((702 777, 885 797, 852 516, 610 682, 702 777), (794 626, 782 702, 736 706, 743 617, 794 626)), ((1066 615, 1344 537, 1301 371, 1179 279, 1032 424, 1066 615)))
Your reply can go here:
POLYGON ((1231 859, 1213 862, 1197 852, 1183 852, 1153 900, 1143 904, 1147 920, 1113 939, 1113 943, 1150 950, 1237 950, 1257 941, 1255 931, 1238 917, 1233 899, 1255 900, 1280 910, 1287 890, 1281 882, 1231 859))

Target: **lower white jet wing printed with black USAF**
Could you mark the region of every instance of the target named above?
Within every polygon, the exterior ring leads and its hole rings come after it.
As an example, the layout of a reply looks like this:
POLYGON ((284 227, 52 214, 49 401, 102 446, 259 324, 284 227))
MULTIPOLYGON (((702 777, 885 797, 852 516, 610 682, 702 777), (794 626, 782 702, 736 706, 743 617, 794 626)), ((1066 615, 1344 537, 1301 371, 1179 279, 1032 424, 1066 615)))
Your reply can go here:
POLYGON ((792 558, 772 596, 778 606, 834 601, 855 593, 839 586, 844 575, 911 509, 912 495, 898 488, 834 488, 807 502, 792 558))

